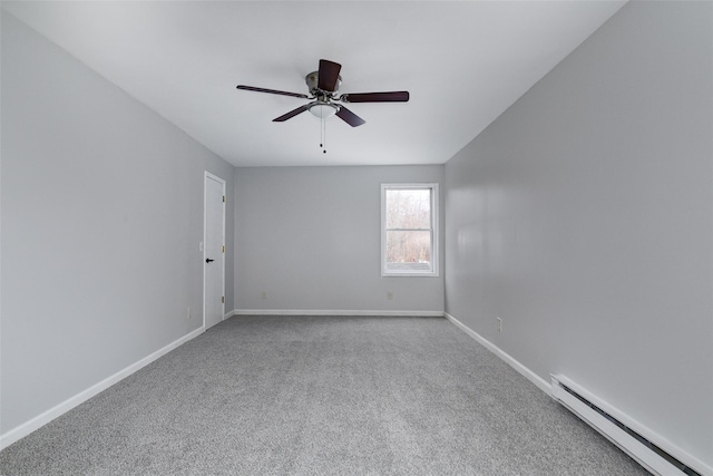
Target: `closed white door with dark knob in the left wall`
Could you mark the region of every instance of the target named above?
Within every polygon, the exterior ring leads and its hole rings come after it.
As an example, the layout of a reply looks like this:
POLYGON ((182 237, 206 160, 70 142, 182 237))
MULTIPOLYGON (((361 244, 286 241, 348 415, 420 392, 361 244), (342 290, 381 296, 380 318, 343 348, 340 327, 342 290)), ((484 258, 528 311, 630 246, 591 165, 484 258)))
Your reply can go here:
POLYGON ((225 314, 225 181, 205 173, 203 246, 203 324, 225 314))

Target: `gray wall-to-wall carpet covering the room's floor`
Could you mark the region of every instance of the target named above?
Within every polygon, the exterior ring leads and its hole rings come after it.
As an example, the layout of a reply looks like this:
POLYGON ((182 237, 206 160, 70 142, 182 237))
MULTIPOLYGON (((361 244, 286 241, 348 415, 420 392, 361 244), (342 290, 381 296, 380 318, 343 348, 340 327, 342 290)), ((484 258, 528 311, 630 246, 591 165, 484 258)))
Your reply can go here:
POLYGON ((235 317, 0 453, 20 475, 646 475, 442 318, 235 317))

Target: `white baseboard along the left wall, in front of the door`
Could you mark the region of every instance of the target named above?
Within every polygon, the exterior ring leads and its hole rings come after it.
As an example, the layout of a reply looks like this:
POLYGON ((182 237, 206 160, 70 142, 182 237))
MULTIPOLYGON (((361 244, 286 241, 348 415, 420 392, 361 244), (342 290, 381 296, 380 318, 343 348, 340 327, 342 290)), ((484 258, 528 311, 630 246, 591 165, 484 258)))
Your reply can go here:
POLYGON ((186 336, 182 337, 178 340, 175 340, 174 342, 170 342, 168 346, 163 347, 162 349, 158 349, 157 351, 155 351, 154 353, 143 358, 141 360, 131 363, 130 366, 128 366, 127 368, 119 370, 118 372, 114 373, 110 377, 107 377, 106 379, 101 380, 100 382, 89 387, 88 389, 80 391, 79 394, 75 395, 74 397, 62 401, 61 404, 50 408, 49 410, 45 411, 43 414, 38 415, 37 417, 12 428, 11 430, 0 435, 0 450, 7 448, 8 446, 12 445, 13 443, 18 441, 21 438, 25 438, 26 436, 28 436, 29 434, 31 434, 32 431, 35 431, 36 429, 39 429, 40 427, 47 425, 48 422, 52 421, 55 418, 66 414, 67 411, 71 410, 72 408, 77 407, 80 404, 84 404, 85 401, 89 400, 91 397, 94 397, 95 395, 99 394, 100 391, 106 390, 107 388, 111 387, 114 383, 117 383, 118 381, 125 379, 126 377, 130 376, 131 373, 140 370, 141 368, 148 366, 149 363, 152 363, 154 360, 158 359, 159 357, 170 352, 172 350, 174 350, 175 348, 177 348, 178 346, 189 341, 191 339, 196 338, 197 336, 202 334, 204 332, 204 328, 201 327, 198 329, 196 329, 195 331, 187 333, 186 336))

